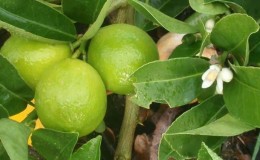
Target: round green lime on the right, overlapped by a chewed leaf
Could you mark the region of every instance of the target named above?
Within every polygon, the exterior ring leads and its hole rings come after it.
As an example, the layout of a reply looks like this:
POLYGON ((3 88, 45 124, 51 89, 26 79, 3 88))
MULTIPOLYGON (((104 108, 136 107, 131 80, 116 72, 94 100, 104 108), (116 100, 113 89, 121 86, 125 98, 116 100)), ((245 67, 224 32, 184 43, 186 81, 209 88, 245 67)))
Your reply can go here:
POLYGON ((151 37, 128 24, 101 28, 88 49, 88 62, 99 72, 107 90, 118 94, 133 93, 131 74, 157 59, 156 44, 151 37))

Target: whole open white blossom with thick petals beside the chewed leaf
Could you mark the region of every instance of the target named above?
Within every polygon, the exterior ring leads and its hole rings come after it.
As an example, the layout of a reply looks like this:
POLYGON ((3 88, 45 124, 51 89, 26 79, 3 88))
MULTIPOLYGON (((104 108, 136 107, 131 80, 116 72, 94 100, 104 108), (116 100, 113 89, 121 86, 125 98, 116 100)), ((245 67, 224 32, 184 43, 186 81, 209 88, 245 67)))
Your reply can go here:
POLYGON ((221 68, 220 65, 214 64, 202 75, 202 88, 210 87, 217 79, 216 92, 223 94, 223 81, 230 82, 233 79, 233 73, 229 68, 221 68))

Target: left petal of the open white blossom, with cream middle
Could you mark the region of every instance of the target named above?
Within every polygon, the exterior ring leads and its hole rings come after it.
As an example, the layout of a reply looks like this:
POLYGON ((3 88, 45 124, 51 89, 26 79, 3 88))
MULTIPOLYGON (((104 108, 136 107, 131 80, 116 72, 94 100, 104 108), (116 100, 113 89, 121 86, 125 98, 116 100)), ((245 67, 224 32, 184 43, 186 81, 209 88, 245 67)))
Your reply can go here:
POLYGON ((210 87, 214 81, 216 80, 219 72, 221 70, 221 66, 218 64, 213 64, 209 67, 209 69, 202 75, 202 88, 210 87))

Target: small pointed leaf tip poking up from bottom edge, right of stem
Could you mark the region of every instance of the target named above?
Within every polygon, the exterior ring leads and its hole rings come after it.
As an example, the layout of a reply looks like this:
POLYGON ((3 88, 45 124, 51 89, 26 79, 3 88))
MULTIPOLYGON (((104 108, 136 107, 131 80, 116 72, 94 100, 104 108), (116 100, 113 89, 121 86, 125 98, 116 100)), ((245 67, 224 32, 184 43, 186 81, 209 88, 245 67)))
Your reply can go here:
POLYGON ((213 152, 204 142, 201 144, 197 160, 222 160, 215 152, 213 152))

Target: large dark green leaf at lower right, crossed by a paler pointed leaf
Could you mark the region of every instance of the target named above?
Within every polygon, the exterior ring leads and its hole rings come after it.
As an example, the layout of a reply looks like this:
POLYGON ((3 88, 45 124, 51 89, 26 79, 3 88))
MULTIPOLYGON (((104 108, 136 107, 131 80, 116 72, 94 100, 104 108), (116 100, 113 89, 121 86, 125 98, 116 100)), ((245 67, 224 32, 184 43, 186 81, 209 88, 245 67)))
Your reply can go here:
POLYGON ((211 97, 183 113, 163 135, 159 146, 159 159, 164 160, 172 157, 179 160, 196 157, 202 142, 215 149, 223 141, 223 137, 183 132, 210 124, 226 113, 223 98, 219 95, 211 97))

